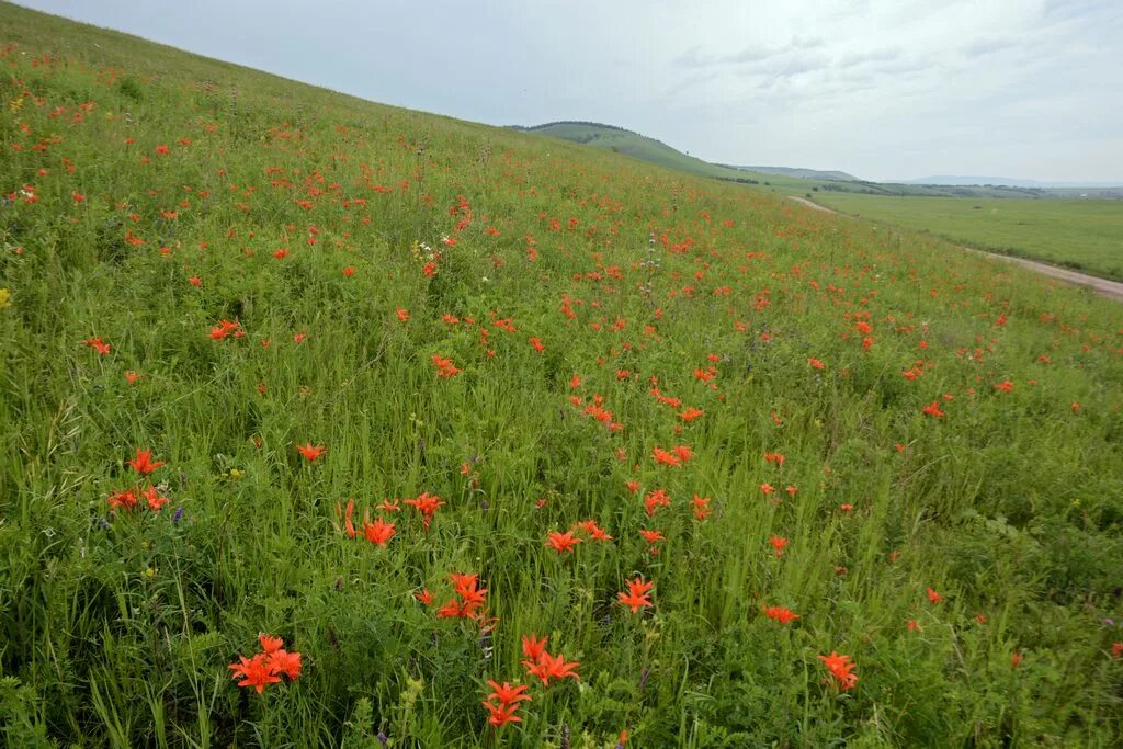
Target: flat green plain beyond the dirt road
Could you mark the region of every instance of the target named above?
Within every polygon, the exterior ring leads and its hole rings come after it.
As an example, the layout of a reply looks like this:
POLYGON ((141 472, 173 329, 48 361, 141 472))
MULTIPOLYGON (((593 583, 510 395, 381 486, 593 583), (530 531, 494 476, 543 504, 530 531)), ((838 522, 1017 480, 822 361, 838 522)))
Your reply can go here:
POLYGON ((882 198, 820 191, 851 216, 1123 281, 1123 200, 882 198))

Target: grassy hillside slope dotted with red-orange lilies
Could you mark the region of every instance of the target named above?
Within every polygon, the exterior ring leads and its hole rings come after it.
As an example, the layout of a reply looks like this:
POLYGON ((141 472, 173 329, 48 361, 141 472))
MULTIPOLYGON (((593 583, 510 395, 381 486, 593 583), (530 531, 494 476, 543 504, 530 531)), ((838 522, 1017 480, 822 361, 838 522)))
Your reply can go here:
POLYGON ((9 746, 1123 742, 1120 305, 9 4, 0 68, 9 746))

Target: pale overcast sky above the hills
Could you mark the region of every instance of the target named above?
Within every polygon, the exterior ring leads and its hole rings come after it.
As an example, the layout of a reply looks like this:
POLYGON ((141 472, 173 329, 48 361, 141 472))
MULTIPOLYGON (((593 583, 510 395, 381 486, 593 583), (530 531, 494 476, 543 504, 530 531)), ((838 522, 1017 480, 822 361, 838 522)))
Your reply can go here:
POLYGON ((706 161, 1123 181, 1123 0, 19 0, 365 99, 706 161))

